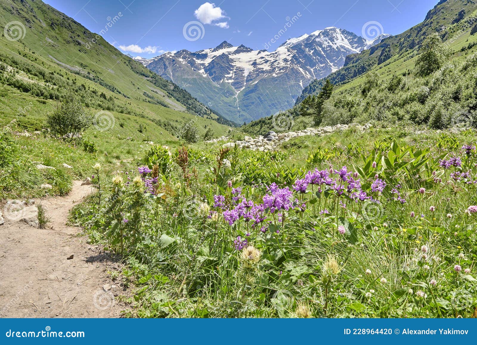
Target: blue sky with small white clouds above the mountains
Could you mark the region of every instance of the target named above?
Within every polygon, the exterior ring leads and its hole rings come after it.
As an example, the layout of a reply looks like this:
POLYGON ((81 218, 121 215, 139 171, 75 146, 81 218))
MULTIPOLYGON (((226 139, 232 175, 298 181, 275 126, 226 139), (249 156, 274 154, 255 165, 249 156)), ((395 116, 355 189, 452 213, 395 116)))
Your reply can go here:
POLYGON ((438 0, 44 0, 124 53, 213 48, 220 42, 275 50, 291 37, 330 26, 369 38, 398 34, 424 20, 438 0), (111 22, 114 23, 111 24, 111 22), (285 30, 286 29, 286 30, 285 30), (365 31, 366 32, 366 31, 365 31), (368 34, 367 34, 368 35, 368 34))

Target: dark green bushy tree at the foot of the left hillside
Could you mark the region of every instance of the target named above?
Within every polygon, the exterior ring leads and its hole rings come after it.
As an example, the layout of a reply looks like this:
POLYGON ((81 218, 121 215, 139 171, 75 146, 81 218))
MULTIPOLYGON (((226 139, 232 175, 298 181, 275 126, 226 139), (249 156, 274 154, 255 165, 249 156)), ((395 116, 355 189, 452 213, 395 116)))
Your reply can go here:
POLYGON ((86 114, 80 99, 71 91, 67 92, 63 102, 46 118, 46 126, 63 140, 69 136, 79 136, 92 122, 91 115, 86 114))

